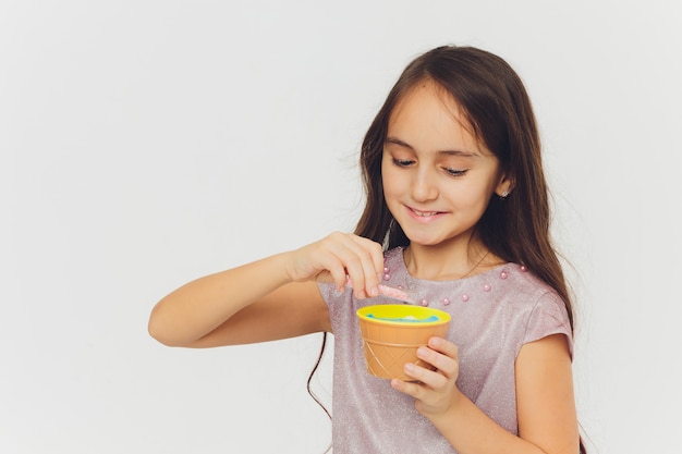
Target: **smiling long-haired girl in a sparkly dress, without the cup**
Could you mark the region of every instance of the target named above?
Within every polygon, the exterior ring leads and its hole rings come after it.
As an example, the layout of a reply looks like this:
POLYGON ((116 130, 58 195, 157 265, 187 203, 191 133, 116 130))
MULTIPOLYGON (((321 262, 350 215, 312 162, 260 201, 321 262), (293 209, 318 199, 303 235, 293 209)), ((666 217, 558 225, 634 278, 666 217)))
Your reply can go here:
POLYGON ((334 334, 333 452, 582 451, 572 309, 549 237, 531 102, 499 57, 439 47, 414 60, 365 136, 367 203, 332 233, 200 278, 157 304, 149 332, 212 347, 334 334), (352 282, 352 289, 349 286, 352 282), (355 311, 409 289, 448 311, 413 380, 365 370, 355 311))

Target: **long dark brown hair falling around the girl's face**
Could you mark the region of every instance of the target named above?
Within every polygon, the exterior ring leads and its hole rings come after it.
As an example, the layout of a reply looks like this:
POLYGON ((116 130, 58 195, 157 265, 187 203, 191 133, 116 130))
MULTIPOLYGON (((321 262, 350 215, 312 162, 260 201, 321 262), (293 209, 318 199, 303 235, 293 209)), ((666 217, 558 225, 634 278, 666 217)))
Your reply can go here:
POLYGON ((381 159, 391 111, 425 79, 452 96, 474 135, 497 156, 513 182, 507 198, 490 199, 476 234, 494 254, 525 265, 555 289, 567 305, 573 327, 570 293, 549 235, 549 194, 531 100, 519 75, 490 52, 472 47, 438 47, 403 71, 363 140, 360 161, 367 199, 355 233, 382 243, 386 249, 410 244, 383 199, 381 159))

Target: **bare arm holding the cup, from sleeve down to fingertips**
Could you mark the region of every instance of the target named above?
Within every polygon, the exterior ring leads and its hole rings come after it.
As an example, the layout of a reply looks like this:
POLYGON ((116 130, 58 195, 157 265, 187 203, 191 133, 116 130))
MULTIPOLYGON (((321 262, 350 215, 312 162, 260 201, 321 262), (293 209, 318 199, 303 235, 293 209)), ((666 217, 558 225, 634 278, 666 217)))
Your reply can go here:
POLYGON ((565 338, 555 334, 525 344, 516 357, 519 437, 484 414, 455 386, 456 346, 434 338, 422 359, 438 370, 412 367, 423 384, 398 380, 393 386, 413 395, 424 414, 462 454, 575 454, 579 430, 573 396, 571 358, 565 338))

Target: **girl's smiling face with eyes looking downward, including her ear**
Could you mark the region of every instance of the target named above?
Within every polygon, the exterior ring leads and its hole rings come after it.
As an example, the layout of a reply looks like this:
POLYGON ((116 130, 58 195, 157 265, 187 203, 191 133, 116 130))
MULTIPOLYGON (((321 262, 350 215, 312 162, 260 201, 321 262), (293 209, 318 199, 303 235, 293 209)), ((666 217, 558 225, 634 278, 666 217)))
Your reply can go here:
POLYGON ((430 81, 391 112, 383 194, 412 244, 468 243, 492 194, 509 188, 497 157, 468 130, 456 102, 430 81))

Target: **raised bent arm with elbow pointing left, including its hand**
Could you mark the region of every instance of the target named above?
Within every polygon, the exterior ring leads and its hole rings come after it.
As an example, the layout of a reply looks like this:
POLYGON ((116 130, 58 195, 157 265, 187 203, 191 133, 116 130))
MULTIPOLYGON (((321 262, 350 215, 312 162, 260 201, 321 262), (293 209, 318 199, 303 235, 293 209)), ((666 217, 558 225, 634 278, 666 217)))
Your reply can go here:
POLYGON ((330 331, 316 281, 343 287, 348 274, 356 296, 373 296, 382 260, 380 245, 334 233, 181 286, 154 307, 149 333, 166 345, 211 347, 330 331))

